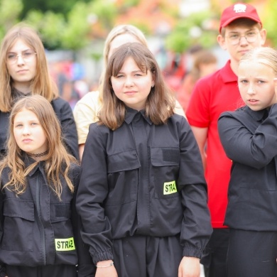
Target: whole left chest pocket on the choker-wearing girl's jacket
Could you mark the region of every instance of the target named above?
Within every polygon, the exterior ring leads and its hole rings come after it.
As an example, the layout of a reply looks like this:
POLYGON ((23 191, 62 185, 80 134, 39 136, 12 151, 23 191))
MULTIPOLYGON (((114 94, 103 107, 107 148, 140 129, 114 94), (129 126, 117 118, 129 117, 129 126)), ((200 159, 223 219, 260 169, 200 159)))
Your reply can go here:
POLYGON ((4 200, 4 232, 1 248, 12 251, 33 251, 33 201, 4 200))

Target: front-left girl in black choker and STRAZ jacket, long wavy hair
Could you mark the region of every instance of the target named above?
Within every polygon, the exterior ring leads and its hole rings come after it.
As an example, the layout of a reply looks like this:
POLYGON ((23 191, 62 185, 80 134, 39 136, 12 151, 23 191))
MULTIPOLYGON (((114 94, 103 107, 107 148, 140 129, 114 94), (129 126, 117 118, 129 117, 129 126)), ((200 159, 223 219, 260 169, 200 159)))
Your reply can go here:
POLYGON ((80 166, 45 97, 13 105, 0 176, 0 276, 94 276, 75 210, 80 166))

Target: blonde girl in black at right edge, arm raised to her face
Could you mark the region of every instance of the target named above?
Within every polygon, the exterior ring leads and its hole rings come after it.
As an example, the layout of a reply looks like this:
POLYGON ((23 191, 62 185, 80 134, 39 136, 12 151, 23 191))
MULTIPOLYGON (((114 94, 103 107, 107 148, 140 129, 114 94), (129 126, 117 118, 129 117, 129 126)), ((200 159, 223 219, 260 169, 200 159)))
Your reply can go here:
POLYGON ((239 62, 246 104, 224 112, 218 128, 232 160, 224 223, 228 276, 277 276, 277 51, 255 48, 239 62))

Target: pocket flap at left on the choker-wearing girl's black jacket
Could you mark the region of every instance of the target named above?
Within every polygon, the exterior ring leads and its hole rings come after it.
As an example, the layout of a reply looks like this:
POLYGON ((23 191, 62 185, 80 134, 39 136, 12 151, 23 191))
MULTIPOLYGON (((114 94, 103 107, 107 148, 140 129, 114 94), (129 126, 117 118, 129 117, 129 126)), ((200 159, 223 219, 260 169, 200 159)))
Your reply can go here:
POLYGON ((33 201, 8 198, 4 200, 4 216, 21 217, 29 221, 35 221, 35 206, 33 201))

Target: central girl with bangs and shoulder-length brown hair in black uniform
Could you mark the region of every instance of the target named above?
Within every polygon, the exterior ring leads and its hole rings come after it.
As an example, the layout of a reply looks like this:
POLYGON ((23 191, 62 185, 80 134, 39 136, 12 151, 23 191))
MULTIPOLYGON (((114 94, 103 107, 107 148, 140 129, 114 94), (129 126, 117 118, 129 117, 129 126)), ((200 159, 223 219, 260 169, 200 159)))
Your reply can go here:
POLYGON ((99 122, 82 158, 77 211, 96 276, 200 276, 212 232, 199 148, 153 54, 109 58, 99 122))

